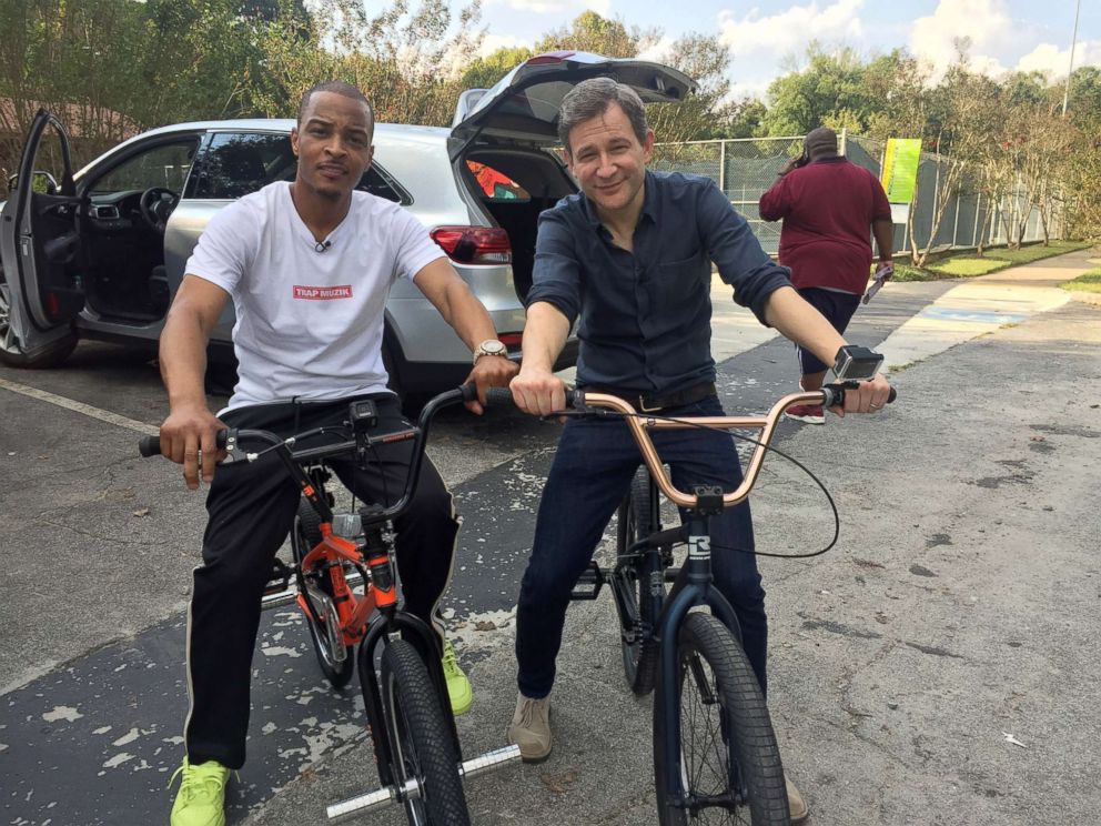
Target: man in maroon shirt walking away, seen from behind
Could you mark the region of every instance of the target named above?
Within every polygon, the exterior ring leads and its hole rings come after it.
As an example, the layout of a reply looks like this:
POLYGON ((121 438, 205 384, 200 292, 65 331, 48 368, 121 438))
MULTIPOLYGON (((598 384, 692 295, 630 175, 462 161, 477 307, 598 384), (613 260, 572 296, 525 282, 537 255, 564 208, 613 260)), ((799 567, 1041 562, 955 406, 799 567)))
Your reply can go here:
MULTIPOLYGON (((791 269, 799 294, 844 333, 860 303, 871 268, 871 235, 880 266, 891 265, 895 224, 879 180, 837 153, 831 129, 812 130, 760 198, 760 216, 784 219, 780 263, 791 269)), ((804 390, 819 390, 828 365, 797 345, 804 390)), ((788 407, 788 419, 825 424, 820 405, 788 407)))

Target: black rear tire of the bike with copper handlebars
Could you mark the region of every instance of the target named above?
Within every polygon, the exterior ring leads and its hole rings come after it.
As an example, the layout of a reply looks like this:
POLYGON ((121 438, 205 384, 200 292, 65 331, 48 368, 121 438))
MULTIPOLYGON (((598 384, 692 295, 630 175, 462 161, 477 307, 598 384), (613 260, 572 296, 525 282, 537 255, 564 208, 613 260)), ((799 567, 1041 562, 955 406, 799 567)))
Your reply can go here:
MULTIPOLYGON (((616 526, 616 551, 623 554, 638 540, 644 525, 649 521, 650 483, 645 467, 640 467, 630 483, 628 493, 619 505, 619 517, 616 526)), ((638 557, 624 566, 626 593, 624 596, 634 602, 628 613, 638 616, 646 627, 654 627, 654 611, 648 598, 647 590, 650 572, 646 557, 638 557)), ((634 618, 634 617, 629 617, 634 618)), ((627 686, 635 696, 643 697, 654 691, 654 678, 657 673, 657 642, 654 638, 636 639, 628 643, 620 637, 623 648, 623 669, 627 686)))

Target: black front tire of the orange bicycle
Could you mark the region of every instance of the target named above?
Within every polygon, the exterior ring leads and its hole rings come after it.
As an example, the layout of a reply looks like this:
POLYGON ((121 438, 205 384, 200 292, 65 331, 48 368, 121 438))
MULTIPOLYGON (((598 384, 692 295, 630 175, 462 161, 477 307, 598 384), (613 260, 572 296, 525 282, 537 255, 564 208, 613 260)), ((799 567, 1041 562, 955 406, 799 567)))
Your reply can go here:
POLYGON ((382 654, 381 676, 394 782, 402 786, 416 779, 424 793, 404 802, 405 817, 413 826, 469 826, 455 743, 420 653, 404 639, 391 642, 382 654))

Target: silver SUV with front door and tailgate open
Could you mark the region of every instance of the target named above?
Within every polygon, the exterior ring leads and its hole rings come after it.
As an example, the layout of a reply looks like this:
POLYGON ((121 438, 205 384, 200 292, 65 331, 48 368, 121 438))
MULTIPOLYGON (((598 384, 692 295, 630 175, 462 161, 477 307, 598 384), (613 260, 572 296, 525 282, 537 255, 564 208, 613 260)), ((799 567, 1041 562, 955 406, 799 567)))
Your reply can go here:
MULTIPOLYGON (((375 129, 374 163, 360 189, 401 203, 424 223, 489 310, 514 357, 538 215, 576 190, 553 152, 558 107, 574 84, 604 74, 647 101, 677 101, 695 85, 656 63, 557 52, 526 61, 493 89, 464 92, 450 130, 375 129)), ((211 215, 272 181, 294 178, 293 125, 234 120, 164 127, 73 174, 64 128, 40 111, 0 220, 0 361, 52 366, 79 338, 128 343, 152 355, 211 215), (47 134, 51 143, 43 145, 47 134), (60 183, 37 171, 40 147, 58 153, 60 183)), ((229 309, 212 335, 212 361, 232 364, 232 326, 229 309)), ((576 355, 572 338, 557 366, 572 365, 576 355)), ((456 385, 471 363, 467 347, 404 280, 386 305, 384 357, 391 385, 414 394, 456 385)))

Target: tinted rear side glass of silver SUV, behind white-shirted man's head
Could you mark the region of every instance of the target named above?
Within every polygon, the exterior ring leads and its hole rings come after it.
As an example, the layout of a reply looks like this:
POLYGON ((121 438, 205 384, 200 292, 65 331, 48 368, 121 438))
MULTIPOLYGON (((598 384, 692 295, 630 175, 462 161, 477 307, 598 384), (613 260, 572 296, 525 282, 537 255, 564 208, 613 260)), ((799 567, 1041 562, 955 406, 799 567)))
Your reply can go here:
MULTIPOLYGON (((286 134, 219 132, 203 153, 188 198, 235 199, 274 181, 293 181, 297 159, 286 134)), ((395 203, 413 202, 377 167, 368 169, 356 189, 395 203)))

